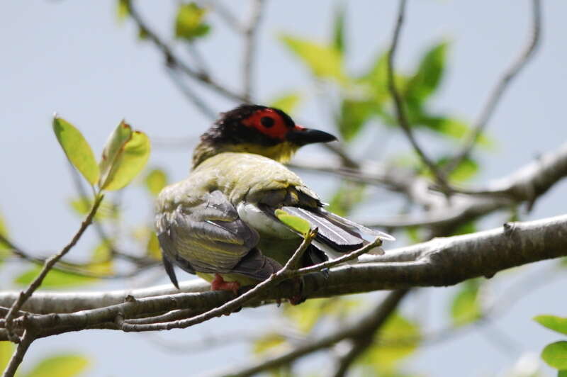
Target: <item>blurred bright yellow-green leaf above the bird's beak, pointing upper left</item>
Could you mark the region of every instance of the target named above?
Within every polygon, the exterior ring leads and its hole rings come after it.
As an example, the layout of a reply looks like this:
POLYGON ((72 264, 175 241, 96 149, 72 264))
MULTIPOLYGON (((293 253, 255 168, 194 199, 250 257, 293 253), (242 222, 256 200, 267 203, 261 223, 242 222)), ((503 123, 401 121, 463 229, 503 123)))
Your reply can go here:
POLYGON ((309 67, 316 77, 334 79, 341 84, 346 81, 347 78, 342 69, 342 58, 335 47, 291 35, 281 35, 280 40, 309 67))

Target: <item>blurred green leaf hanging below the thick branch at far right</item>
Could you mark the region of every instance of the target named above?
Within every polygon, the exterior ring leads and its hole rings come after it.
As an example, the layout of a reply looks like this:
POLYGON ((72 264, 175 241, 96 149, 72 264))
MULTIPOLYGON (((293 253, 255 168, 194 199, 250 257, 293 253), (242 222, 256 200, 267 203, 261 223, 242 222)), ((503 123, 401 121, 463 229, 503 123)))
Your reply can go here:
POLYGON ((482 308, 478 301, 480 286, 478 279, 461 283, 459 291, 451 301, 451 319, 455 326, 466 325, 481 317, 482 308))

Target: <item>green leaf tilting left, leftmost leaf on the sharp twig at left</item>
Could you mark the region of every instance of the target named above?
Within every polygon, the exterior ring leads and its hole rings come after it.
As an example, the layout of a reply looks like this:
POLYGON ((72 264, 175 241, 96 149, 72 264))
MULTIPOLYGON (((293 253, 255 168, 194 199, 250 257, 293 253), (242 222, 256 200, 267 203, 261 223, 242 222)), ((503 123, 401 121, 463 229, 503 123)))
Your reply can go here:
POLYGON ((96 184, 99 180, 99 166, 96 164, 91 146, 82 133, 67 120, 58 116, 53 117, 53 132, 67 159, 87 181, 92 185, 96 184))

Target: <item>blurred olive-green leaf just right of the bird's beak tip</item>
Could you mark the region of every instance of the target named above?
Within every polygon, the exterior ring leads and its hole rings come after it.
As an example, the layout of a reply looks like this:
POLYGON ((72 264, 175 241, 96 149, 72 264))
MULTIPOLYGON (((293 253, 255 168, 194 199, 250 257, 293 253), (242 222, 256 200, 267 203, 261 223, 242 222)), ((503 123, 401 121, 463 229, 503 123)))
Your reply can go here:
POLYGON ((343 99, 337 121, 342 138, 347 142, 354 139, 376 110, 374 101, 343 99))

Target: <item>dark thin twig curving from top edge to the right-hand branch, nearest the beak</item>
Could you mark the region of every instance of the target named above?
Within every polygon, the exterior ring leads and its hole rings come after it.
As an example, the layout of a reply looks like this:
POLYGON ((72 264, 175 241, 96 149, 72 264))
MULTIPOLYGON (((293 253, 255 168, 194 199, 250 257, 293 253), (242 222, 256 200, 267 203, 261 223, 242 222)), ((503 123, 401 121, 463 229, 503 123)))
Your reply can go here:
POLYGON ((439 169, 437 169, 437 166, 434 164, 434 162, 432 162, 432 160, 429 157, 427 157, 427 154, 425 154, 425 152, 422 150, 420 145, 417 143, 417 140, 415 139, 415 135, 413 135, 412 128, 408 120, 408 116, 406 116, 405 114, 405 108, 404 108, 402 96, 400 95, 398 88, 395 86, 394 58, 395 58, 396 49, 398 48, 398 40, 400 39, 400 30, 402 28, 404 21, 406 0, 400 0, 399 4, 400 5, 398 6, 398 18, 395 23, 390 50, 388 51, 388 64, 387 64, 388 89, 390 90, 394 102, 395 116, 398 119, 398 123, 400 124, 400 127, 402 128, 403 132, 405 133, 405 136, 410 141, 413 150, 415 150, 415 152, 420 157, 422 162, 427 166, 427 168, 430 169, 435 179, 437 179, 439 186, 447 187, 448 186, 447 181, 445 181, 444 176, 442 176, 441 172, 439 171, 439 169))

